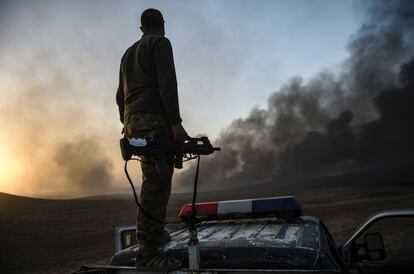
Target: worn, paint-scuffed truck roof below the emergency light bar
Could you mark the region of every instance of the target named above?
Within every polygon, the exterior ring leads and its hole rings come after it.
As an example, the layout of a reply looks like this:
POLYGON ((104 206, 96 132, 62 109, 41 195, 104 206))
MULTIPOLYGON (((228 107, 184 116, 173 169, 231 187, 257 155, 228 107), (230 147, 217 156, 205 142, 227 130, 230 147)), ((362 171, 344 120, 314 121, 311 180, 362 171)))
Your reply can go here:
MULTIPOLYGON (((208 221, 197 225, 202 268, 335 269, 321 264, 319 220, 301 217, 208 221)), ((171 233, 164 251, 188 265, 188 228, 171 233)), ((112 258, 113 265, 134 265, 136 246, 112 258)))

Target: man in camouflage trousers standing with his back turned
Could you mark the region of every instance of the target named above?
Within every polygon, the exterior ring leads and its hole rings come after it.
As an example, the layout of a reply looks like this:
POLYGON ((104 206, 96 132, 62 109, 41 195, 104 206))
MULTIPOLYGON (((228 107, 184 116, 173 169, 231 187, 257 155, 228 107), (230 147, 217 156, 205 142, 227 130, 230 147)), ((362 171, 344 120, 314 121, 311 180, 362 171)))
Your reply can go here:
MULTIPOLYGON (((116 101, 126 137, 188 138, 181 125, 177 80, 170 41, 164 37, 164 19, 158 10, 147 9, 141 16, 143 35, 121 59, 116 101)), ((172 155, 142 157, 140 202, 152 217, 165 221, 171 179, 172 155)), ((137 213, 138 254, 141 271, 170 271, 182 263, 159 251, 170 240, 164 225, 137 213)))

